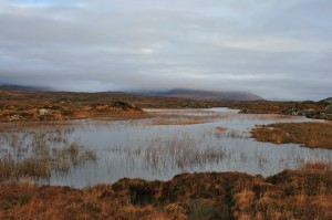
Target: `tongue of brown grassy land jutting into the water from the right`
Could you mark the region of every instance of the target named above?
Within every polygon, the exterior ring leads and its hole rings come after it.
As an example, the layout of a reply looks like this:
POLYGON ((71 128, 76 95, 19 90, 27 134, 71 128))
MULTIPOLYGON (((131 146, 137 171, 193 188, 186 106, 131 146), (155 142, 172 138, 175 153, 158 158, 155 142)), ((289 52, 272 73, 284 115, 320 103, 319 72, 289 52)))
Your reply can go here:
POLYGON ((332 123, 279 123, 252 129, 258 142, 295 143, 304 147, 332 149, 332 123))

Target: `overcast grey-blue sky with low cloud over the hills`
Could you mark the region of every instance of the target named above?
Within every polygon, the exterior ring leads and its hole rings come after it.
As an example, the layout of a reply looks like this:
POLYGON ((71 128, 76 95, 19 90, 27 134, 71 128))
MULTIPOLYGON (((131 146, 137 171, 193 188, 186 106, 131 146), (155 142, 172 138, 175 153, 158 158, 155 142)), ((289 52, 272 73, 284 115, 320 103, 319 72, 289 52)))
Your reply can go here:
POLYGON ((0 84, 332 96, 331 0, 0 0, 0 84))

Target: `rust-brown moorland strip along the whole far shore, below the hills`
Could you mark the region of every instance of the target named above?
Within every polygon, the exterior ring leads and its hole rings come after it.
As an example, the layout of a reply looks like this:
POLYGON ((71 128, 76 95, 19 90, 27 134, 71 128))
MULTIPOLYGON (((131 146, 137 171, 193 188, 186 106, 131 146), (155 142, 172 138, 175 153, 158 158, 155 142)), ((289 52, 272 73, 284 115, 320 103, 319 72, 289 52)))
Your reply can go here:
MULTIPOLYGON (((324 103, 314 102, 207 102, 189 98, 148 96, 129 93, 70 93, 0 90, 0 122, 63 121, 80 118, 143 118, 138 108, 206 108, 230 107, 248 109, 250 113, 280 114, 288 108, 314 109, 320 112, 324 103), (117 105, 116 103, 131 104, 117 105), (136 108, 136 107, 137 108, 136 108), (51 114, 39 115, 45 108, 51 114)), ((330 118, 331 116, 325 116, 330 118)))

